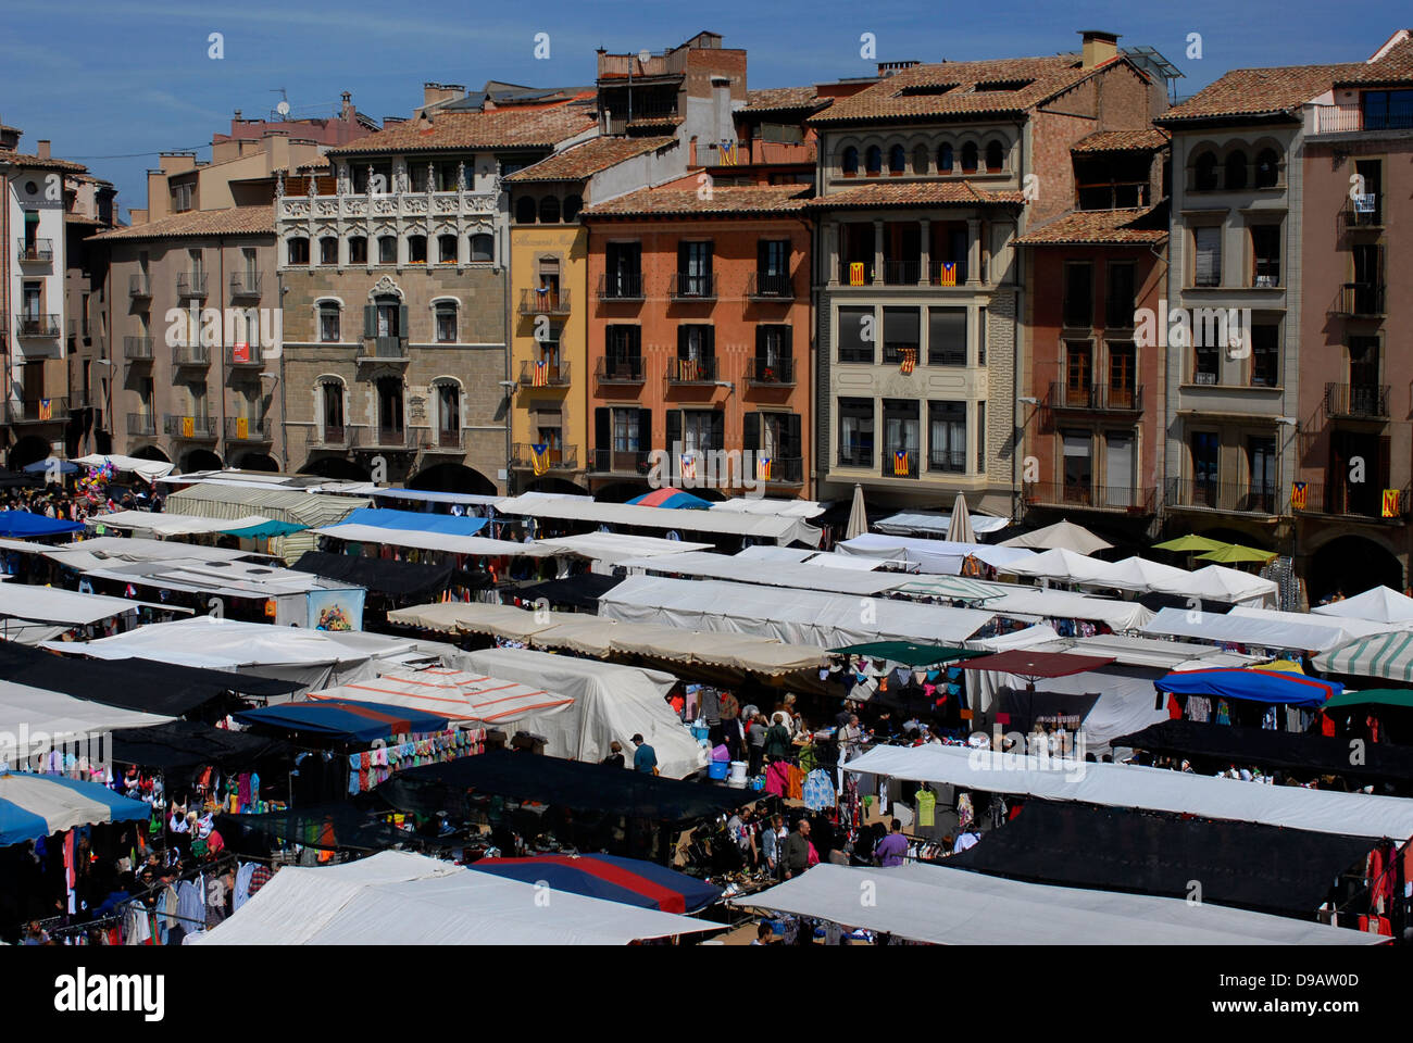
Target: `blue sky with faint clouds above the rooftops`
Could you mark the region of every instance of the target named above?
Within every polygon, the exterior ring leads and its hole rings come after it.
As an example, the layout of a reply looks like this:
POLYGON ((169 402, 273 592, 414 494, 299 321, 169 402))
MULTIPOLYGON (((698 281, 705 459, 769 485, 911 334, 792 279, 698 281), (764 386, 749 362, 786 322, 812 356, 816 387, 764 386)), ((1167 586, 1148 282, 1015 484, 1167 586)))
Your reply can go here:
POLYGON ((1186 73, 1178 90, 1187 95, 1231 68, 1362 61, 1413 21, 1388 0, 1361 4, 1356 18, 1311 0, 4 0, 4 7, 11 25, 30 28, 0 37, 0 122, 24 130, 21 148, 32 151, 48 137, 55 155, 113 181, 124 215, 146 205, 143 171, 158 151, 205 148, 212 133, 229 129, 235 109, 267 113, 278 88, 295 114, 326 114, 352 90, 362 112, 382 119, 408 114, 424 81, 589 83, 601 45, 658 51, 698 30, 746 48, 750 86, 771 88, 870 72, 859 55, 863 33, 875 34, 882 61, 965 61, 1074 49, 1077 30, 1102 28, 1121 33, 1122 45, 1156 47, 1186 73), (211 33, 223 35, 220 61, 208 57, 211 33), (534 58, 538 33, 550 34, 548 59, 534 58), (1201 59, 1187 57, 1191 33, 1201 34, 1201 59))

